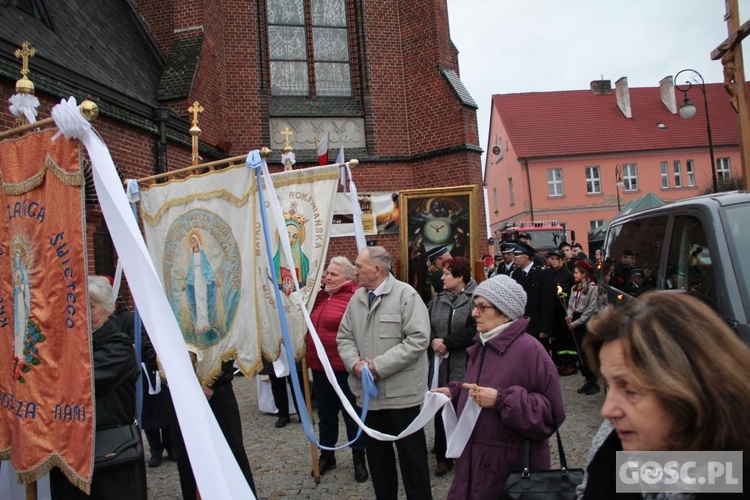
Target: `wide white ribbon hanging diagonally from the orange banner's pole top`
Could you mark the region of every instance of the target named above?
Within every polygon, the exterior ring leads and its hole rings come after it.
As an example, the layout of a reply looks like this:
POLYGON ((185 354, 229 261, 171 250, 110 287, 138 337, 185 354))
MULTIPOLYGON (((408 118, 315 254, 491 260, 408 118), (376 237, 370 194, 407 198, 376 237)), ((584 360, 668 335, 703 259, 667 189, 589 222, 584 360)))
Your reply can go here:
POLYGON ((78 111, 72 97, 55 106, 52 117, 60 133, 67 138, 79 139, 91 158, 94 185, 104 219, 123 262, 138 311, 169 376, 172 402, 201 497, 211 500, 254 499, 198 383, 177 320, 174 314, 168 313, 171 310, 169 302, 107 146, 78 111))

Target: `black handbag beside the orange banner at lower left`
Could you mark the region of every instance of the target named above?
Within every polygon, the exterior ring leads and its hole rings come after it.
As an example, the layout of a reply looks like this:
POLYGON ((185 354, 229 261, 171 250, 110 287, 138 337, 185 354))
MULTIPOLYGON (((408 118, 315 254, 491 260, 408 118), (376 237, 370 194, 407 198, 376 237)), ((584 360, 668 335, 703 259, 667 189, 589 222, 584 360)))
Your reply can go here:
POLYGON ((134 424, 96 431, 94 472, 101 472, 143 460, 141 433, 134 424))

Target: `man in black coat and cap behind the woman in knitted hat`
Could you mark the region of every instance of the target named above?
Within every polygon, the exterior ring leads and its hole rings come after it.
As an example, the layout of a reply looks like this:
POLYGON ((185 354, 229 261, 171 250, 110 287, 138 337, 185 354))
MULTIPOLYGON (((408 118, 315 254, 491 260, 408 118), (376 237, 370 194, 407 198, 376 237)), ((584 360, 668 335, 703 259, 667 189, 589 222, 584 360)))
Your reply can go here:
POLYGON ((516 270, 511 278, 526 291, 525 315, 531 318, 526 331, 549 349, 555 290, 549 273, 533 262, 536 250, 525 243, 516 243, 514 250, 516 270))

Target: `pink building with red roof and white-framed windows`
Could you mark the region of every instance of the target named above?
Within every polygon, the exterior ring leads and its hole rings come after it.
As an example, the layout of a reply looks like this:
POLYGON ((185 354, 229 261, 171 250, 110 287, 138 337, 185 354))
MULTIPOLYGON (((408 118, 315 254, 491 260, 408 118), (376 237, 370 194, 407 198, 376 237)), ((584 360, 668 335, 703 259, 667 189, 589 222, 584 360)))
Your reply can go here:
MULTIPOLYGON (((680 84, 682 87, 682 84, 680 84)), ((659 87, 497 94, 492 97, 485 164, 490 236, 511 221, 565 223, 587 247, 587 233, 619 206, 652 192, 665 203, 711 189, 711 161, 700 84, 698 108, 682 118, 671 76, 659 87), (619 179, 618 179, 619 172, 619 179), (618 182, 619 180, 619 182, 618 182)), ((742 174, 737 115, 722 84, 706 84, 716 173, 742 174)))

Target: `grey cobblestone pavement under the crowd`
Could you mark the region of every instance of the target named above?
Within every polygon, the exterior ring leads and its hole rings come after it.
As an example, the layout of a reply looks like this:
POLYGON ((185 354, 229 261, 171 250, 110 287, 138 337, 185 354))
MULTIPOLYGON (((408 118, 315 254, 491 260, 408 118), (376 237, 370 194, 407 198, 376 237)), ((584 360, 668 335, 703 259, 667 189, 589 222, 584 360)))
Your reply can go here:
MULTIPOLYGON (((576 393, 583 383, 580 375, 562 377, 563 398, 567 418, 560 433, 565 446, 569 467, 583 467, 586 464, 591 438, 601 423, 599 408, 603 393, 584 396, 576 393)), ((354 481, 351 453, 348 450, 336 452, 338 467, 320 478, 320 484, 310 476, 312 455, 310 443, 302 431, 296 416, 292 423, 282 429, 274 427, 276 416, 258 410, 256 383, 254 378, 237 377, 234 390, 243 416, 243 437, 245 449, 250 459, 253 478, 260 499, 267 498, 373 498, 372 483, 354 481)), ((316 417, 317 418, 317 417, 316 417)), ((317 429, 316 429, 317 434, 317 429)), ((343 422, 340 423, 339 437, 346 436, 343 422)), ((428 446, 432 447, 432 432, 427 431, 428 446)), ((145 443, 145 437, 144 437, 145 443)), ((551 440, 553 466, 557 467, 557 447, 551 440)), ((149 453, 146 450, 146 459, 149 453)), ((435 459, 430 454, 430 470, 435 469, 435 459)), ((177 465, 166 459, 159 467, 147 468, 149 499, 181 499, 177 465)), ((433 497, 445 498, 453 473, 443 477, 432 476, 433 497)), ((401 488, 403 495, 403 487, 401 488)))

